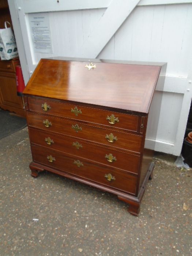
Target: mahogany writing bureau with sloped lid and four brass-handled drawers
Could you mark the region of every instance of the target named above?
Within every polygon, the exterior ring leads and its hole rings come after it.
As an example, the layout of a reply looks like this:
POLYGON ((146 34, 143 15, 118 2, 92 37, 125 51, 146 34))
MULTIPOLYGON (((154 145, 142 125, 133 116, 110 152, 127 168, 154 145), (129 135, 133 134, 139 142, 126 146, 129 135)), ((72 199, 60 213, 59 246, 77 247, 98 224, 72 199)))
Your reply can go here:
POLYGON ((41 59, 23 92, 31 175, 48 170, 111 192, 138 215, 154 168, 144 147, 148 112, 165 69, 166 64, 41 59))

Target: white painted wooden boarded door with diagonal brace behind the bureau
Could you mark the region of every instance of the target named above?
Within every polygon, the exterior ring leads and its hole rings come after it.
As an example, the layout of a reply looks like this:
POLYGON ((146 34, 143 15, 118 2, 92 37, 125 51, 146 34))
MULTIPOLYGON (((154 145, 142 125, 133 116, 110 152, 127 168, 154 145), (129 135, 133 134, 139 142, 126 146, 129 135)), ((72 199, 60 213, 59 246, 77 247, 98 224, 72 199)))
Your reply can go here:
POLYGON ((179 155, 192 97, 192 1, 96 2, 8 0, 25 82, 41 58, 52 56, 167 62, 155 150, 179 155), (34 13, 49 17, 52 54, 33 50, 34 13))

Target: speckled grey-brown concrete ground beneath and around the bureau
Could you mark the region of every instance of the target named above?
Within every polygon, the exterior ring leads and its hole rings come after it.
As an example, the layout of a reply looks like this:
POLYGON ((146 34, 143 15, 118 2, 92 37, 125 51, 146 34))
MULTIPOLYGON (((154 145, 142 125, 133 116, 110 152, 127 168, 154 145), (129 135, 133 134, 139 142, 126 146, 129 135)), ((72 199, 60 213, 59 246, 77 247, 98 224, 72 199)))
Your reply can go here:
POLYGON ((27 128, 0 140, 0 255, 192 255, 192 172, 157 155, 139 217, 116 196, 30 176, 27 128), (185 210, 183 209, 183 206, 185 210))

